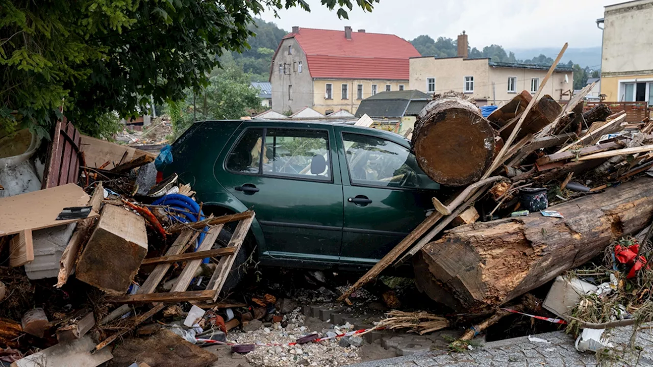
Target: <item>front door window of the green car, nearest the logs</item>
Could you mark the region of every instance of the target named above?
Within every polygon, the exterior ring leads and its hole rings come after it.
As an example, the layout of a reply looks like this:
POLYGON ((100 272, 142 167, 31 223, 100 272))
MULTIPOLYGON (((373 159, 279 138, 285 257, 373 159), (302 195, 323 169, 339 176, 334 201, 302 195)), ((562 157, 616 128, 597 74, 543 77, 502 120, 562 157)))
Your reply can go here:
POLYGON ((439 189, 417 166, 407 148, 375 136, 342 133, 351 183, 358 185, 439 189))

